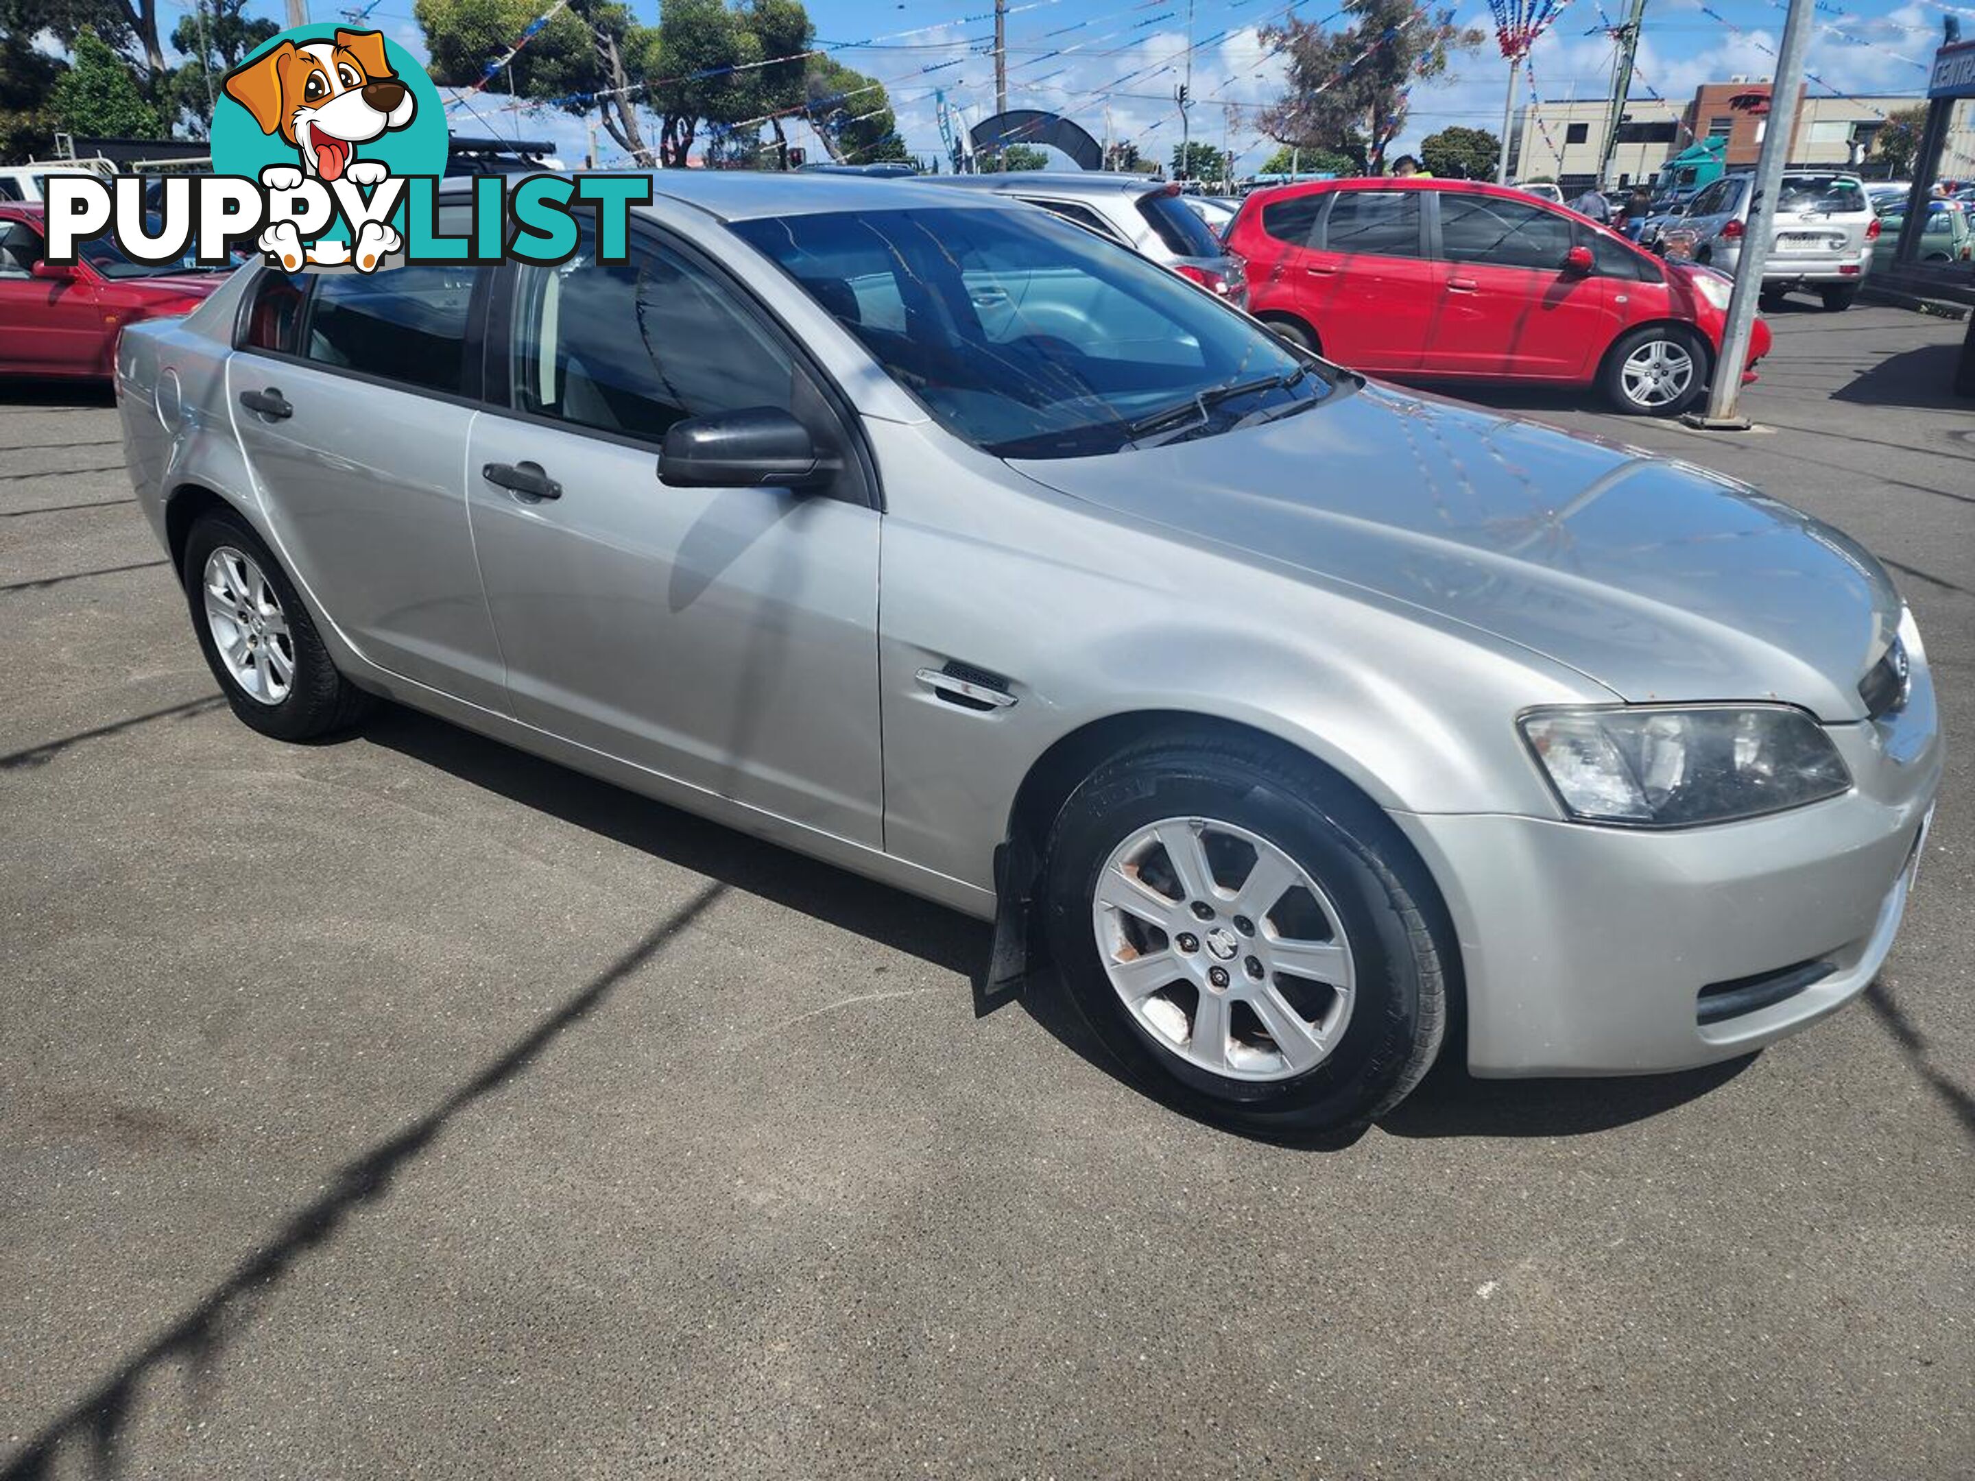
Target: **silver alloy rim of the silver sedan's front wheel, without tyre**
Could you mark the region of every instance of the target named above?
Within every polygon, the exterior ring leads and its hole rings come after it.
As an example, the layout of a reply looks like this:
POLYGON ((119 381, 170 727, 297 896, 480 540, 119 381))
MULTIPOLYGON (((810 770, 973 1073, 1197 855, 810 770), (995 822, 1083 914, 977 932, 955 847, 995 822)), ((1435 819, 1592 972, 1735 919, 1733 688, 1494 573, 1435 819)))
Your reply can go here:
POLYGON ((1284 849, 1232 823, 1165 818, 1126 837, 1090 906, 1098 958, 1155 1045, 1234 1080, 1288 1080, 1351 1021, 1351 942, 1284 849))

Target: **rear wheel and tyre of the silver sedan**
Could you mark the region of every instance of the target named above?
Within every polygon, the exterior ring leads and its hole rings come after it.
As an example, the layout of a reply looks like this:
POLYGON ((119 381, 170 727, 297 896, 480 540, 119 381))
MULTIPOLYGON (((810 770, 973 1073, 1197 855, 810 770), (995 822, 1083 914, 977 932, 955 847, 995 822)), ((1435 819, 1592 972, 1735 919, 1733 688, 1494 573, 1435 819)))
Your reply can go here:
POLYGON ((180 581, 207 667, 233 713, 261 735, 310 740, 371 707, 336 671, 288 573, 231 509, 192 525, 180 581))

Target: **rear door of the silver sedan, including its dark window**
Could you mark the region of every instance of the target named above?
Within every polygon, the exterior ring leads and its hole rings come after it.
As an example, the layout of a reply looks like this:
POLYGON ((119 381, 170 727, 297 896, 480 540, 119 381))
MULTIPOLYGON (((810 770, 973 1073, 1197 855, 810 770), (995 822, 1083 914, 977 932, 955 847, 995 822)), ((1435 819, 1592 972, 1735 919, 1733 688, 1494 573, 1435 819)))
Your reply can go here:
MULTIPOLYGON (((442 231, 462 231, 464 213, 442 231)), ((466 527, 486 271, 263 273, 227 401, 282 565, 371 663, 506 709, 466 527)))

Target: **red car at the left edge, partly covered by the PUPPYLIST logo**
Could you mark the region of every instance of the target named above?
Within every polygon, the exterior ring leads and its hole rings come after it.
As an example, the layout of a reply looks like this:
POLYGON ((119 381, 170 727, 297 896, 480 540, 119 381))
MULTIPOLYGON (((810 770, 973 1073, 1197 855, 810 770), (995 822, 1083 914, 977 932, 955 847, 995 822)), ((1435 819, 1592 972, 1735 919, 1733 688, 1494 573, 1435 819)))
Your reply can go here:
POLYGON ((45 255, 41 207, 0 203, 0 375, 107 381, 124 324, 186 314, 233 271, 132 263, 109 237, 83 243, 75 267, 45 255))

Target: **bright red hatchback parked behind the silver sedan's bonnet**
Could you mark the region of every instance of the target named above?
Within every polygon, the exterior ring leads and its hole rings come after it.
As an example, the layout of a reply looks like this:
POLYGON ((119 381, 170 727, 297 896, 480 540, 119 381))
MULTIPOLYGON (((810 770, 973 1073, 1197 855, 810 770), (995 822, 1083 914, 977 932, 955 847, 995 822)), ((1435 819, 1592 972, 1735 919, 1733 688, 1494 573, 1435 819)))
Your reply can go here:
MULTIPOLYGON (((1400 381, 1596 385, 1671 417, 1706 389, 1730 280, 1503 186, 1323 180, 1258 190, 1228 227, 1248 312, 1400 381)), ((1756 320, 1742 379, 1770 351, 1756 320)))

